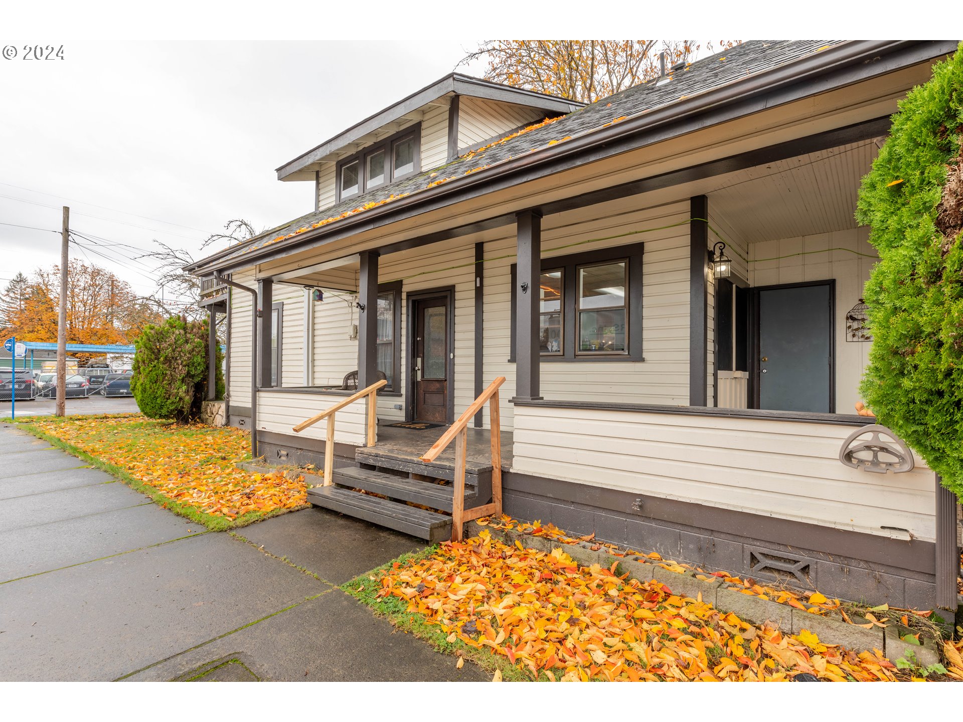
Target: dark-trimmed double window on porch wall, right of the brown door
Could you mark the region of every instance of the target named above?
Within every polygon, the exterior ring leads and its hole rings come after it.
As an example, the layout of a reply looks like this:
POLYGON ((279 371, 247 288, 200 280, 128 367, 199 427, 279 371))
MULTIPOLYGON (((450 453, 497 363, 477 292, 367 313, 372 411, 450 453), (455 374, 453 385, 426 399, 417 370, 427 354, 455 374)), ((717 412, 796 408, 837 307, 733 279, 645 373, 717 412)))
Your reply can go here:
MULTIPOLYGON (((542 260, 539 348, 543 361, 643 361, 642 244, 542 260)), ((511 357, 518 283, 511 266, 511 357)))

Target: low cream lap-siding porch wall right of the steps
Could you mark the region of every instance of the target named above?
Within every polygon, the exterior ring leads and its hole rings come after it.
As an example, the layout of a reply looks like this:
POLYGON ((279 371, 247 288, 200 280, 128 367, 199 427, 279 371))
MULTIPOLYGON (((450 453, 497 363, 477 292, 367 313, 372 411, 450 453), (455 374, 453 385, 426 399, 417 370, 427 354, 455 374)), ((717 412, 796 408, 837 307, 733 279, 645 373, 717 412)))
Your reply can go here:
POLYGON ((933 477, 840 463, 852 427, 520 407, 512 470, 837 529, 932 540, 933 477))

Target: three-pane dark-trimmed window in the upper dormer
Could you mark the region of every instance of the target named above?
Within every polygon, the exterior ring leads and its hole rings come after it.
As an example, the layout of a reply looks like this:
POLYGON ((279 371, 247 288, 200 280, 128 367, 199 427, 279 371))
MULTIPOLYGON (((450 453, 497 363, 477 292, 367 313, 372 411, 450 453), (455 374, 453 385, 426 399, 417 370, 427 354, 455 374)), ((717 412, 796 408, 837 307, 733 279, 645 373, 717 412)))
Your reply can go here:
POLYGON ((342 200, 347 200, 361 193, 367 193, 379 186, 392 183, 418 172, 421 172, 420 122, 409 125, 388 138, 368 145, 357 153, 353 153, 347 158, 338 161, 335 166, 334 175, 336 202, 340 203, 342 200), (403 143, 408 141, 411 142, 412 147, 405 155, 403 143), (384 172, 380 176, 377 176, 377 174, 372 171, 371 161, 376 159, 379 153, 382 154, 384 172), (401 166, 401 172, 399 172, 398 169, 400 162, 404 162, 401 166), (347 178, 345 176, 346 169, 349 173, 349 177, 347 178), (381 180, 377 181, 377 177, 380 177, 381 180), (351 181, 356 182, 346 187, 346 181, 349 183, 351 183, 351 181), (349 189, 351 192, 347 193, 346 191, 349 189))

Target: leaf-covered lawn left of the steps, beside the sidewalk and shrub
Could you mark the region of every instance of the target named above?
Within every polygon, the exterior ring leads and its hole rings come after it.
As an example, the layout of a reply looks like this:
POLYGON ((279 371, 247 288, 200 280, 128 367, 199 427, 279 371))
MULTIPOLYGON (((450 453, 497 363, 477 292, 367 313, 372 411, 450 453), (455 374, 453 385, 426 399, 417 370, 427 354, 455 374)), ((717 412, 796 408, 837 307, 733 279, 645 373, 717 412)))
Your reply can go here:
POLYGON ((307 503, 303 479, 251 474, 237 466, 250 455, 249 435, 238 428, 177 425, 140 415, 32 419, 23 427, 87 454, 208 529, 242 526, 307 503))

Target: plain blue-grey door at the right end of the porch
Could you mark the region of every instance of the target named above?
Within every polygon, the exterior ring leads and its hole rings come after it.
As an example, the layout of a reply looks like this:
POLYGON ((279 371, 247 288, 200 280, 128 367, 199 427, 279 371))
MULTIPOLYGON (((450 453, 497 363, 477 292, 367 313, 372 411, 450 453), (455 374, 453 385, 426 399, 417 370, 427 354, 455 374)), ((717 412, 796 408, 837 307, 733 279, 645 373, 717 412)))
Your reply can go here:
POLYGON ((756 304, 758 407, 832 413, 832 285, 762 288, 756 304))

